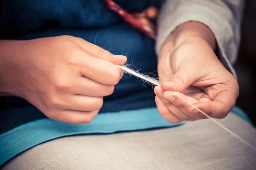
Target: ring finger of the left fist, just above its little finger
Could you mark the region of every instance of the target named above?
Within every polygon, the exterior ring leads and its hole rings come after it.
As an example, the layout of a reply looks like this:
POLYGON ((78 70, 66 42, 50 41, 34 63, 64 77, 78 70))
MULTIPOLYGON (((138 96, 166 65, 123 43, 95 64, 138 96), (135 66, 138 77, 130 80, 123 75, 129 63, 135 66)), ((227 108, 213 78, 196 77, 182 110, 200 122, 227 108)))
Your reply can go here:
POLYGON ((67 106, 63 108, 74 111, 94 111, 102 108, 102 105, 103 97, 74 95, 69 98, 67 106))

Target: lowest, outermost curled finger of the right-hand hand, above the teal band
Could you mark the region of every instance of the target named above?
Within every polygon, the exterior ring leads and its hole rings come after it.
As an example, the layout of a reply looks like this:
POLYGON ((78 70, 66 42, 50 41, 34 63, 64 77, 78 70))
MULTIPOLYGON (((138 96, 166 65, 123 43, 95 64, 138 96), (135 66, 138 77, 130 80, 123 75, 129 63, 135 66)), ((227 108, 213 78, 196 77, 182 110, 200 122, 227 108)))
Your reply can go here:
POLYGON ((157 96, 155 97, 155 101, 157 104, 157 109, 161 116, 163 117, 163 119, 166 119, 166 121, 173 124, 182 122, 182 120, 178 119, 174 114, 172 114, 172 112, 169 111, 168 108, 166 108, 165 105, 163 105, 163 103, 157 96))

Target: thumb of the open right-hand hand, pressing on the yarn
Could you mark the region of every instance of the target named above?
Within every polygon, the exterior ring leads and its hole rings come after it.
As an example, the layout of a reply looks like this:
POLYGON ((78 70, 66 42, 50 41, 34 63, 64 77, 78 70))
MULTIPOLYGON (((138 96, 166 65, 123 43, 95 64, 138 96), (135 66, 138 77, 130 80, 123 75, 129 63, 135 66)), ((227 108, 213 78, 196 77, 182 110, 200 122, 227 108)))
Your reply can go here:
POLYGON ((186 68, 180 68, 167 82, 161 84, 164 91, 177 91, 183 92, 193 82, 195 82, 196 74, 186 68))

